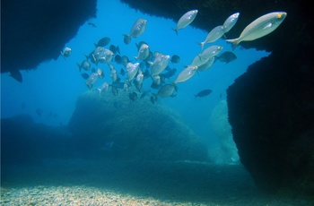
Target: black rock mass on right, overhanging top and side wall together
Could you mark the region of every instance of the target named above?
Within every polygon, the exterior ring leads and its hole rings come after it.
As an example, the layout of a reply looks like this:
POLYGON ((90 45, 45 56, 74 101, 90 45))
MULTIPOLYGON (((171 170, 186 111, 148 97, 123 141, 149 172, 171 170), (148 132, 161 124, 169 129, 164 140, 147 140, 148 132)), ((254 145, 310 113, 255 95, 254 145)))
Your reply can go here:
POLYGON ((180 15, 196 8, 199 13, 192 25, 207 31, 222 24, 231 13, 240 12, 228 39, 239 37, 249 22, 265 13, 288 13, 273 33, 240 44, 272 54, 252 64, 227 90, 229 118, 240 161, 260 188, 314 193, 314 23, 310 2, 121 2, 175 22, 180 15))

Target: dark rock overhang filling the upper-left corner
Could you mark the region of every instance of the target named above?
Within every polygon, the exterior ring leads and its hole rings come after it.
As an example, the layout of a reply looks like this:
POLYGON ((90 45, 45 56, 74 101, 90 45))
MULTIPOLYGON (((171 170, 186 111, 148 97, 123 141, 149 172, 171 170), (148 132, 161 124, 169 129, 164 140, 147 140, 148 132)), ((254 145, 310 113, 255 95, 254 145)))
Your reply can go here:
POLYGON ((96 17, 96 0, 1 1, 1 73, 34 69, 57 59, 83 23, 96 17))

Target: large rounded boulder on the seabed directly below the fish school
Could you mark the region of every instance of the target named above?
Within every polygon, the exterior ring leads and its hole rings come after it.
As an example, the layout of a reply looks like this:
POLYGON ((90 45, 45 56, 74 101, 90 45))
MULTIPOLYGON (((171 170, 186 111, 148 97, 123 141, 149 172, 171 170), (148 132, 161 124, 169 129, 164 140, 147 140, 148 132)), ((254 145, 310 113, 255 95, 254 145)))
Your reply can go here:
POLYGON ((76 148, 98 158, 206 161, 205 142, 170 109, 128 92, 87 91, 69 121, 76 148))

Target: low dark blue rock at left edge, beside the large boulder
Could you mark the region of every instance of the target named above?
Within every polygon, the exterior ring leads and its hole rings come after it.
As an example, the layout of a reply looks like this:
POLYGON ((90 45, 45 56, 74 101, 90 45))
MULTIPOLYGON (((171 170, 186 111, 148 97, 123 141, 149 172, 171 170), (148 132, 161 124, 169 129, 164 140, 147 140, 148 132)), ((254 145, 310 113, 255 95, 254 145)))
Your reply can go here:
POLYGON ((37 124, 29 115, 1 119, 1 166, 42 164, 45 159, 67 159, 71 134, 65 126, 37 124))

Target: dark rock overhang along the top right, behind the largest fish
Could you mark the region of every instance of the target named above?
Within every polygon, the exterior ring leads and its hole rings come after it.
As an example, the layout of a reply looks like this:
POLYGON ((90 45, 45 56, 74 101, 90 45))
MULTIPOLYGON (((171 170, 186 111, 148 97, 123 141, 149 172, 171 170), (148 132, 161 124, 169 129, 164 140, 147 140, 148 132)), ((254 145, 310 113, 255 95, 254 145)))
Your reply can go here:
POLYGON ((286 12, 288 16, 283 24, 262 39, 250 42, 241 42, 242 47, 255 47, 266 51, 281 49, 283 46, 306 43, 313 45, 314 23, 310 11, 310 3, 278 0, 120 0, 128 4, 131 8, 155 16, 169 18, 175 22, 179 20, 183 13, 192 9, 197 9, 198 13, 192 26, 210 31, 215 26, 222 23, 232 14, 240 13, 240 18, 236 25, 228 32, 228 39, 238 38, 241 31, 249 25, 251 21, 259 16, 271 12, 286 12))

